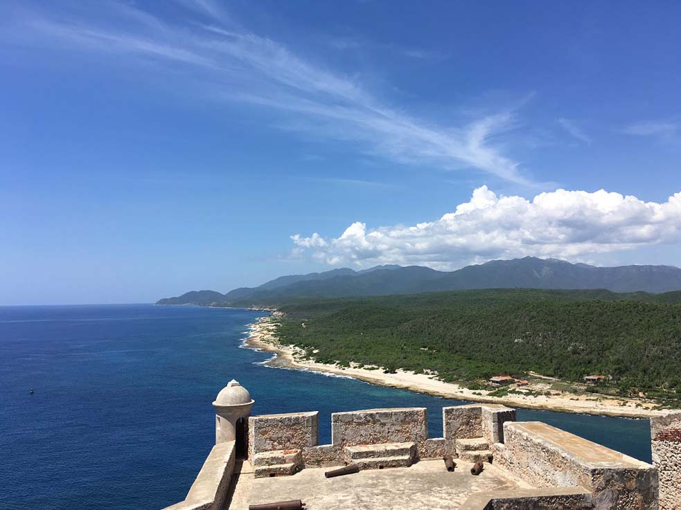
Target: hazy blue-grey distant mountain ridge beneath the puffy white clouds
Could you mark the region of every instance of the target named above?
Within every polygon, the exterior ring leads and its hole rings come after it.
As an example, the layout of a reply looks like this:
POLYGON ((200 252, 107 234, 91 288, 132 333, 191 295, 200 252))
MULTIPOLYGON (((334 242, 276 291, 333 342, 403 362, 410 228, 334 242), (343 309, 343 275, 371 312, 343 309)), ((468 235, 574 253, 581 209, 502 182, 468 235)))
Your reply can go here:
POLYGON ((351 295, 416 294, 467 289, 607 289, 613 292, 662 293, 681 290, 681 268, 674 266, 596 267, 558 259, 524 257, 493 260, 457 271, 423 266, 375 266, 323 273, 287 275, 257 287, 226 294, 191 291, 157 304, 250 306, 273 304, 293 297, 336 298, 351 295))

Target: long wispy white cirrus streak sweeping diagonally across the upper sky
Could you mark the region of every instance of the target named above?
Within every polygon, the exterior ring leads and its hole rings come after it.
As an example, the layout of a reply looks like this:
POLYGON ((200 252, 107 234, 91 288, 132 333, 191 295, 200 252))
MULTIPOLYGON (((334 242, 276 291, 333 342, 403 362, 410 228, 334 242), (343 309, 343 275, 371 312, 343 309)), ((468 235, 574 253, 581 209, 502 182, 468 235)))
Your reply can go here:
MULTIPOLYGON (((513 129, 515 111, 443 125, 392 107, 360 79, 303 59, 290 48, 229 19, 211 0, 176 0, 191 13, 171 21, 127 3, 97 9, 24 12, 3 26, 13 44, 59 46, 74 53, 152 60, 175 77, 210 86, 225 101, 268 109, 286 129, 342 140, 360 152, 397 163, 475 170, 510 183, 535 183, 505 154, 498 138, 513 129), (194 17, 192 17, 194 16, 194 17), (184 18, 184 17, 183 17, 184 18)), ((76 4, 78 5, 78 4, 76 4)), ((423 56, 423 55, 422 55, 423 56)), ((153 72, 147 66, 145 71, 153 72)), ((173 82, 177 88, 181 83, 173 82)), ((195 93, 193 91, 192 93, 195 93)))

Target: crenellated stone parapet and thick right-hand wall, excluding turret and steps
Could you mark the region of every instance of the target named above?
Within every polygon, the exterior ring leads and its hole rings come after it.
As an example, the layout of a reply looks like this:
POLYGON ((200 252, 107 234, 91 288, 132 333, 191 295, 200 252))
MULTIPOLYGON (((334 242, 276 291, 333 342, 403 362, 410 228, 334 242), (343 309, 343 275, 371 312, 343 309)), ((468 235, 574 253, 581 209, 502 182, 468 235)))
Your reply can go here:
POLYGON ((300 450, 298 470, 350 462, 346 449, 352 446, 412 443, 413 460, 443 455, 491 460, 536 487, 583 487, 599 510, 657 508, 653 466, 547 424, 515 422, 515 410, 505 406, 445 407, 443 437, 432 439, 425 408, 333 413, 331 444, 321 446, 317 420, 317 412, 251 417, 251 455, 258 459, 271 450, 300 450))

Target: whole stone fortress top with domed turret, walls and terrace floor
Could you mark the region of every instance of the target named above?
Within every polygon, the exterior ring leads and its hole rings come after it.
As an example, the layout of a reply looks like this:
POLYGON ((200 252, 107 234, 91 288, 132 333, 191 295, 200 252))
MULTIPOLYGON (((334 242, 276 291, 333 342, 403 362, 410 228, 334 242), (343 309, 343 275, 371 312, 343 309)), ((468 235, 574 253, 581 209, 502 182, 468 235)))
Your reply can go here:
POLYGON ((335 412, 331 442, 319 444, 318 412, 249 416, 253 403, 236 381, 220 392, 217 444, 186 500, 166 510, 292 499, 309 510, 681 510, 681 412, 651 421, 651 465, 496 404, 444 407, 441 437, 428 437, 425 408, 335 412), (479 476, 474 462, 485 463, 479 476), (359 473, 320 469, 346 464, 359 473))

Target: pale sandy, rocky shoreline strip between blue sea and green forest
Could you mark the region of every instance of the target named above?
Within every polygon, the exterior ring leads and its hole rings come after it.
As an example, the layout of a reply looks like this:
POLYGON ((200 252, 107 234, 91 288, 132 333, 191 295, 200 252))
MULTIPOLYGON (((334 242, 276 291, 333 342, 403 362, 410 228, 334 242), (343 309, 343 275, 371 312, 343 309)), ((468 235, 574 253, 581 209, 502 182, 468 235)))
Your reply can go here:
POLYGON ((611 416, 624 418, 644 418, 663 414, 664 411, 654 409, 655 403, 635 401, 633 399, 615 399, 613 397, 583 396, 571 393, 551 396, 530 396, 509 394, 505 397, 489 397, 481 391, 468 390, 456 383, 445 383, 427 374, 415 374, 405 370, 398 370, 395 374, 385 374, 382 370, 368 370, 359 367, 339 367, 317 363, 299 356, 300 349, 292 345, 281 345, 276 337, 276 317, 281 312, 259 318, 249 325, 249 334, 243 345, 257 351, 272 352, 273 356, 264 365, 287 368, 292 370, 306 370, 324 372, 337 376, 350 377, 366 383, 391 388, 401 388, 413 392, 421 392, 471 402, 499 403, 514 408, 546 410, 555 412, 569 412, 573 414, 611 416), (639 407, 636 407, 636 404, 639 407))

